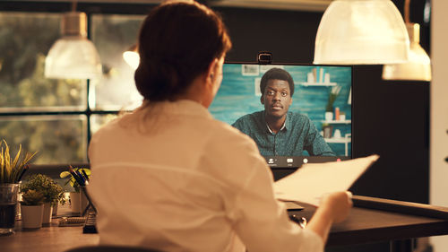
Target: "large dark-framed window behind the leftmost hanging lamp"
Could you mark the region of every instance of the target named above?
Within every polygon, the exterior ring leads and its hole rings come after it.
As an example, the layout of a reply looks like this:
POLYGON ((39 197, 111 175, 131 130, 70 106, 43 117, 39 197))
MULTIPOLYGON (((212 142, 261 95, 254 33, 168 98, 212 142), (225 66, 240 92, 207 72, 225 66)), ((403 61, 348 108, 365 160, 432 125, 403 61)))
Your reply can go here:
POLYGON ((144 16, 90 14, 99 51, 98 81, 44 76, 45 56, 60 37, 62 13, 0 13, 0 138, 38 152, 37 164, 87 162, 90 135, 142 97, 122 53, 135 44, 144 16))

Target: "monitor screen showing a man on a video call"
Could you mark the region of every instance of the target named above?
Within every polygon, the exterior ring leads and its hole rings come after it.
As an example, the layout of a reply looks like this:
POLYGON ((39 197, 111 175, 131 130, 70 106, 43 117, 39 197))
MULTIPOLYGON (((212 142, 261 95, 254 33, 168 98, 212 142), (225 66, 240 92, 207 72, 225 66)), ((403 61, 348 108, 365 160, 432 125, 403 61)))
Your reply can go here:
POLYGON ((271 167, 346 160, 351 87, 348 65, 225 63, 209 110, 251 136, 271 167))

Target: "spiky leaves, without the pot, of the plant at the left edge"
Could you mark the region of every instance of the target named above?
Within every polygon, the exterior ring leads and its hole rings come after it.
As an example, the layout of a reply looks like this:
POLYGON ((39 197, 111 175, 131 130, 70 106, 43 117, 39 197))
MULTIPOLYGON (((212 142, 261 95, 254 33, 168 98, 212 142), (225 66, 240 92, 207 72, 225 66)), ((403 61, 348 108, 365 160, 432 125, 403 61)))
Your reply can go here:
POLYGON ((37 152, 22 154, 22 144, 19 144, 19 151, 12 159, 8 143, 3 140, 0 145, 2 146, 0 152, 0 184, 17 184, 22 179, 23 173, 28 169, 27 164, 37 152))

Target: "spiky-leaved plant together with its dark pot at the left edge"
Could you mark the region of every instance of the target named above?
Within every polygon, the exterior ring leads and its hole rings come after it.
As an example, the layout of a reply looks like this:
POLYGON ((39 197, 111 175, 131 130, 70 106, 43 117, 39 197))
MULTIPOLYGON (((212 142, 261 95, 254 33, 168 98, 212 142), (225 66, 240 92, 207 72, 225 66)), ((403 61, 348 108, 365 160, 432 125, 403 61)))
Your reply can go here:
POLYGON ((17 213, 19 181, 28 169, 28 163, 36 152, 22 152, 22 145, 15 157, 10 153, 8 143, 0 142, 0 235, 13 233, 17 213))

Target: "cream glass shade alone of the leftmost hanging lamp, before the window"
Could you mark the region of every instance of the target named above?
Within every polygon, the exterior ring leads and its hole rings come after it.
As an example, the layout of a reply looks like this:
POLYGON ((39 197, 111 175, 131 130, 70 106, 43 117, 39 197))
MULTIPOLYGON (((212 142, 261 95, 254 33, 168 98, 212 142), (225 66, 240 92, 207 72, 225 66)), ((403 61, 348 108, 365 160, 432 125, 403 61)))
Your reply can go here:
POLYGON ((72 36, 56 40, 45 60, 45 76, 58 79, 95 79, 102 74, 99 54, 89 39, 72 36))

